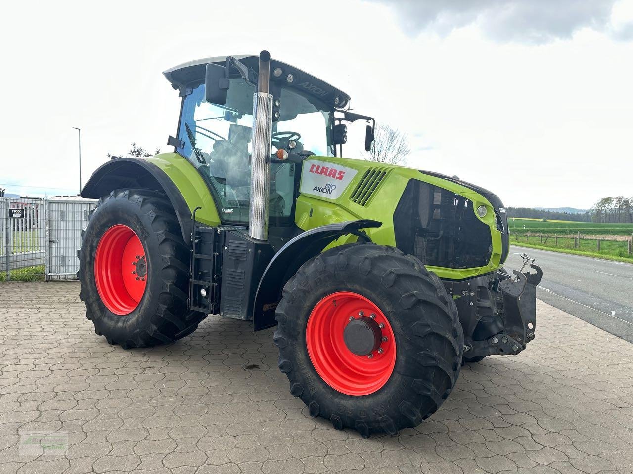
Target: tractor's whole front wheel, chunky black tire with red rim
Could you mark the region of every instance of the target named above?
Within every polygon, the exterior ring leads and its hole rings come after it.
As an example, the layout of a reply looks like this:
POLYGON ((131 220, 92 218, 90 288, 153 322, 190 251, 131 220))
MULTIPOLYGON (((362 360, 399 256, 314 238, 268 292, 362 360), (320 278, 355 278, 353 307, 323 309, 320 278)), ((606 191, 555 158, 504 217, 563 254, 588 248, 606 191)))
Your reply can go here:
POLYGON ((367 437, 415 427, 460 373, 453 300, 420 260, 392 247, 346 245, 308 260, 285 285, 276 317, 291 394, 338 429, 367 437))

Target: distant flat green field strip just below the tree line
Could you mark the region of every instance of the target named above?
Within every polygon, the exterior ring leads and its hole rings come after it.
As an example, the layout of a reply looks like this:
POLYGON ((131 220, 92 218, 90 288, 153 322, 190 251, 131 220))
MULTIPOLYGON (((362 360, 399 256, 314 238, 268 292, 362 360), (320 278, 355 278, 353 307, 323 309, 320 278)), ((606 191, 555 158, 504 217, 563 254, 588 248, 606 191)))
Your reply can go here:
POLYGON ((572 221, 547 221, 535 219, 520 219, 508 217, 508 226, 511 233, 543 233, 543 234, 568 234, 577 235, 630 235, 633 234, 633 224, 603 224, 600 222, 572 222, 572 221))

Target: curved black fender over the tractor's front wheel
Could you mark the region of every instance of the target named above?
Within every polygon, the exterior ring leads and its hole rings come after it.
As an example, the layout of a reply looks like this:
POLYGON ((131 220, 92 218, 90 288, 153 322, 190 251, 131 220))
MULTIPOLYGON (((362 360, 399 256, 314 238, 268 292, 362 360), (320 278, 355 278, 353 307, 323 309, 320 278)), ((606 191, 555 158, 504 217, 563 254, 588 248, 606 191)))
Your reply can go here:
MULTIPOLYGON (((332 241, 344 234, 360 234, 360 229, 380 227, 382 222, 371 219, 335 222, 305 231, 275 254, 264 270, 255 295, 253 326, 255 331, 277 324, 275 308, 281 298, 282 289, 299 267, 323 251, 332 241)), ((367 238, 367 236, 363 236, 367 238)), ((367 238, 368 240, 368 238, 367 238)))

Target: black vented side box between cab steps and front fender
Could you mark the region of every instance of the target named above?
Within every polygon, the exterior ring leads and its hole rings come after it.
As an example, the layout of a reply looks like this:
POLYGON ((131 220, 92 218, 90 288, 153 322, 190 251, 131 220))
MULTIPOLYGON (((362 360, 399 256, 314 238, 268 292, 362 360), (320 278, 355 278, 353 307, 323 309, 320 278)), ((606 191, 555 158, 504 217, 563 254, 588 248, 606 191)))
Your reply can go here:
POLYGON ((251 319, 257 286, 275 251, 269 243, 254 240, 243 230, 223 234, 220 315, 251 319))

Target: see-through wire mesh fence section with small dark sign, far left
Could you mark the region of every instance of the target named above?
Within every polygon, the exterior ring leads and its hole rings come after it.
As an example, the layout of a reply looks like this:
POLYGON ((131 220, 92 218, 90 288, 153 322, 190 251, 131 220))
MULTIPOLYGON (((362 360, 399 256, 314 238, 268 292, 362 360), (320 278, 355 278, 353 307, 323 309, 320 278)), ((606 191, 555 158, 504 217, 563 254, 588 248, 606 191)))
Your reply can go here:
POLYGON ((46 260, 46 212, 37 198, 0 198, 0 272, 36 267, 46 260))

